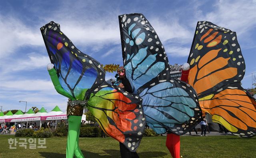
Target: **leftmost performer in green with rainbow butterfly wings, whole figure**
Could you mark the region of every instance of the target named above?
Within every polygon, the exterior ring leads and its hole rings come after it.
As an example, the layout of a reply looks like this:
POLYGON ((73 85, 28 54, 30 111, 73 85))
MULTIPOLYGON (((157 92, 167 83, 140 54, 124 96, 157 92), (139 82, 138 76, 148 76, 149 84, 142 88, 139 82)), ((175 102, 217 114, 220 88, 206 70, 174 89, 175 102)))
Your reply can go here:
POLYGON ((135 152, 145 128, 140 99, 108 84, 101 64, 79 51, 60 31, 58 23, 51 21, 40 30, 52 63, 47 68, 54 87, 70 99, 66 157, 84 157, 78 146, 84 106, 107 135, 135 152))

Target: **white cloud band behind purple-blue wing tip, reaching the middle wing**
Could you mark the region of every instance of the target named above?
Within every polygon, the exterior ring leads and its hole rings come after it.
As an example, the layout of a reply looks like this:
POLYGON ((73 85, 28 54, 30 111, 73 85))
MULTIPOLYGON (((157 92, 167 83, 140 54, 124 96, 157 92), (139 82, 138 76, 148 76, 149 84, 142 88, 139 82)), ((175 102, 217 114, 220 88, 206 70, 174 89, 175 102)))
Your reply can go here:
MULTIPOLYGON (((44 24, 48 22, 50 21, 44 24)), ((55 22, 60 24, 61 30, 74 45, 91 48, 94 52, 100 51, 106 45, 120 43, 117 19, 114 21, 95 19, 95 21, 85 20, 77 23, 76 19, 60 18, 55 22)), ((37 23, 37 27, 31 27, 14 16, 0 16, 0 59, 3 60, 14 54, 21 47, 44 46, 39 30, 44 24, 37 23)), ((86 53, 85 50, 81 51, 86 53)))

